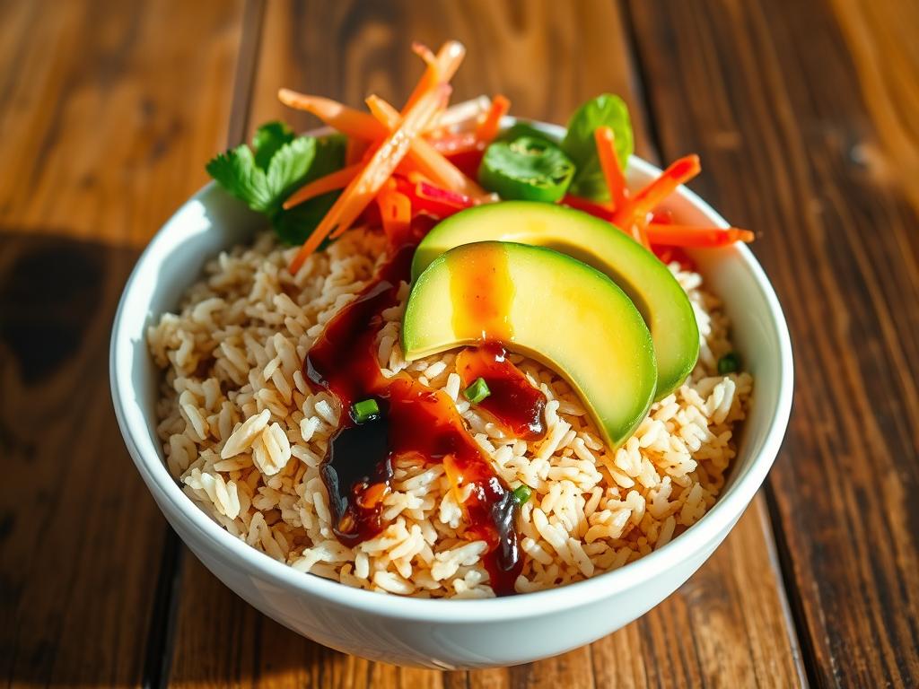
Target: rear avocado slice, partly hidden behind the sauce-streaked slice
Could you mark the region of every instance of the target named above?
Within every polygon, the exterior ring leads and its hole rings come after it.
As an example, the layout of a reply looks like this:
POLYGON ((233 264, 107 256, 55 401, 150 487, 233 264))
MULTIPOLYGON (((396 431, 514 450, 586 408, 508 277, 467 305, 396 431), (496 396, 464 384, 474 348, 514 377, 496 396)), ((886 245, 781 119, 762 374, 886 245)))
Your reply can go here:
POLYGON ((547 246, 612 278, 641 311, 657 356, 657 400, 676 390, 696 366, 698 324, 686 292, 657 257, 604 220, 533 201, 503 201, 462 210, 427 234, 414 254, 417 278, 454 246, 484 241, 547 246))

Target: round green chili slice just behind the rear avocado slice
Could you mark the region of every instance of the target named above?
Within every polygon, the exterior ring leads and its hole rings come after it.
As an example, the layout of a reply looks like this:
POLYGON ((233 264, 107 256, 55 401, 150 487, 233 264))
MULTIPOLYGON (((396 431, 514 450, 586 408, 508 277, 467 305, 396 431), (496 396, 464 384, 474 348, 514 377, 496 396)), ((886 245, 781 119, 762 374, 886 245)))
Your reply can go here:
POLYGON ((571 184, 574 164, 545 139, 494 141, 482 157, 479 183, 501 198, 555 203, 571 184))

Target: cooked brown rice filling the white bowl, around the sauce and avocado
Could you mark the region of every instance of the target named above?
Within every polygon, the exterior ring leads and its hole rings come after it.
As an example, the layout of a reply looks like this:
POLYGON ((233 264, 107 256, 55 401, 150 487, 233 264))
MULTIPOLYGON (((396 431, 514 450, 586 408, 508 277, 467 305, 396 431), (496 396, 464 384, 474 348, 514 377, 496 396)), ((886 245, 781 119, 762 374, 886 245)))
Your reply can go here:
MULTIPOLYGON (((221 254, 181 312, 150 328, 151 352, 165 369, 158 432, 166 466, 233 536, 297 570, 401 595, 494 595, 485 544, 463 538, 462 511, 438 465, 398 463, 383 503, 390 525, 354 548, 335 539, 319 465, 341 410, 327 392, 310 390, 301 361, 372 277, 383 244, 349 232, 290 276, 295 251, 266 232, 221 254)), ((455 355, 405 361, 407 285, 402 303, 383 314, 383 375, 402 371, 445 390, 495 471, 533 491, 521 510, 519 593, 615 570, 660 548, 695 524, 724 484, 753 380, 717 375, 718 358, 731 350, 720 301, 698 274, 670 267, 696 311, 698 366, 616 450, 598 439, 562 378, 520 356, 513 360, 549 399, 548 434, 530 443, 505 437, 459 394, 455 355)))

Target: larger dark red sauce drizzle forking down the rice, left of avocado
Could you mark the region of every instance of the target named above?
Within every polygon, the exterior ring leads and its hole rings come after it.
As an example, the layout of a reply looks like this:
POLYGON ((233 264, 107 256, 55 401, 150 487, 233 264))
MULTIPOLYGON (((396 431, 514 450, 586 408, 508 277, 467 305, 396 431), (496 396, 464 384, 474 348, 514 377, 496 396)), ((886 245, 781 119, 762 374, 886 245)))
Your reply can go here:
POLYGON ((445 392, 404 374, 384 378, 377 361, 382 311, 398 302, 400 282, 411 275, 413 254, 412 244, 396 251, 357 299, 326 325, 303 362, 304 376, 342 404, 338 430, 320 468, 335 536, 353 546, 385 528, 382 502, 391 491, 394 458, 442 462, 453 490, 465 498, 466 537, 488 544, 484 563, 494 593, 514 593, 523 561, 513 493, 494 473, 445 392), (380 417, 357 424, 352 405, 370 397, 377 401, 380 417))

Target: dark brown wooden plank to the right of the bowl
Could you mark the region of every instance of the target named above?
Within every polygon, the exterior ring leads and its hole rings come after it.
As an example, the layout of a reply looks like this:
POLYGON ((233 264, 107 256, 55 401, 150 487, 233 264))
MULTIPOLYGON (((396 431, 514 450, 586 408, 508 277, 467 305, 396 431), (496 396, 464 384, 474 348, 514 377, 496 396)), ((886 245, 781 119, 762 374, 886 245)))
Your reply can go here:
POLYGON ((795 412, 769 484, 811 681, 915 686, 919 8, 632 10, 664 152, 701 153, 698 188, 765 233, 789 317, 795 412))

